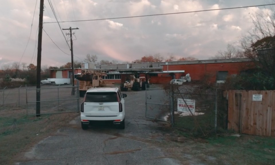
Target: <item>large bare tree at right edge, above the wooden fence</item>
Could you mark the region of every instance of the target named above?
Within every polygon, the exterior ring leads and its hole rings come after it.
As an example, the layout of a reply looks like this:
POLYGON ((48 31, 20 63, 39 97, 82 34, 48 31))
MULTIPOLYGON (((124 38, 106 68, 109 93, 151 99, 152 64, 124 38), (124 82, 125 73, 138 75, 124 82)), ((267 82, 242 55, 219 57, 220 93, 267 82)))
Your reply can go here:
POLYGON ((275 10, 271 7, 252 15, 251 19, 254 28, 240 41, 244 55, 275 78, 275 10))

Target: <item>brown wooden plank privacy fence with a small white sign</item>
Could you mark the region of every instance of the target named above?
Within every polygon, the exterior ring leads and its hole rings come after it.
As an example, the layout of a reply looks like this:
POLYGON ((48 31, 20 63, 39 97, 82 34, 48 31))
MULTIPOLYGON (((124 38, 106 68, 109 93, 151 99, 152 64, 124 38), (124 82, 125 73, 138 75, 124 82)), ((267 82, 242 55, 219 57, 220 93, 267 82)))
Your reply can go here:
POLYGON ((228 129, 250 135, 275 136, 275 90, 229 90, 228 129))

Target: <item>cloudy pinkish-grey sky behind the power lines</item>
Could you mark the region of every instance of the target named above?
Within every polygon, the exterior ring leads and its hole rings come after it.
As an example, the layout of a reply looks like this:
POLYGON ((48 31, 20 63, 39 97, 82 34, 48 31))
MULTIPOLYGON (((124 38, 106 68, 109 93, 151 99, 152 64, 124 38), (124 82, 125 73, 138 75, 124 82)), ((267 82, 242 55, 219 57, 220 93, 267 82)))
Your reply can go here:
MULTIPOLYGON (((261 5, 266 0, 51 0, 58 21, 100 19, 160 13, 175 13, 261 5)), ((0 68, 19 62, 34 63, 37 57, 39 5, 35 0, 1 0, 0 68), (34 10, 35 14, 34 14, 34 10), (32 19, 34 22, 31 30, 32 19), (30 35, 31 33, 31 35, 30 35), (28 39, 30 41, 27 45, 28 39), (25 53, 23 54, 25 50, 25 53)), ((48 0, 44 0, 44 30, 67 54, 70 50, 58 27, 48 0)), ((268 8, 268 7, 267 7, 268 8)), ((250 16, 265 12, 263 7, 199 13, 60 23, 74 30, 74 59, 96 54, 99 60, 133 61, 144 55, 173 53, 177 57, 208 59, 227 44, 237 43, 253 28, 250 16)), ((70 62, 43 32, 42 65, 70 62)), ((64 31, 68 33, 68 31, 64 31)), ((68 36, 66 36, 68 39, 68 36)))

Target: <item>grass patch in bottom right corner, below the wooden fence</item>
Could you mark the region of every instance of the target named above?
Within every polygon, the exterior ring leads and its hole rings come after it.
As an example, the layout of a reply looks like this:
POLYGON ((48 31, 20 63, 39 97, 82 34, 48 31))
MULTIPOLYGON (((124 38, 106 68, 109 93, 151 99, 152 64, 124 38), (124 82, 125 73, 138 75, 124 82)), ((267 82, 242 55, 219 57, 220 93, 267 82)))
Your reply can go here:
POLYGON ((274 164, 275 138, 259 136, 224 136, 207 139, 212 154, 229 164, 274 164))

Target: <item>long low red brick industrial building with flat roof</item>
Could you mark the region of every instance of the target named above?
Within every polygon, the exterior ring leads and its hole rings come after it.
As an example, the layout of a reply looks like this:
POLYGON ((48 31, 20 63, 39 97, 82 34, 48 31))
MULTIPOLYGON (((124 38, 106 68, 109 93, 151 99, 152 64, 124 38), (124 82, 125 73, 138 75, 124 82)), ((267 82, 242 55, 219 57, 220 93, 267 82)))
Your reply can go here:
MULTIPOLYGON (((196 60, 196 61, 171 61, 156 63, 131 63, 131 64, 112 64, 95 65, 93 63, 83 63, 81 68, 93 69, 107 73, 103 77, 105 81, 121 83, 121 76, 131 71, 143 71, 139 76, 151 78, 153 84, 168 83, 171 79, 179 79, 190 74, 192 81, 199 81, 205 77, 210 78, 211 82, 224 81, 228 75, 238 74, 241 71, 254 68, 251 59, 215 59, 215 60, 196 60)), ((76 68, 74 74, 80 74, 81 68, 76 68)), ((53 69, 50 78, 71 78, 72 69, 53 69)))

